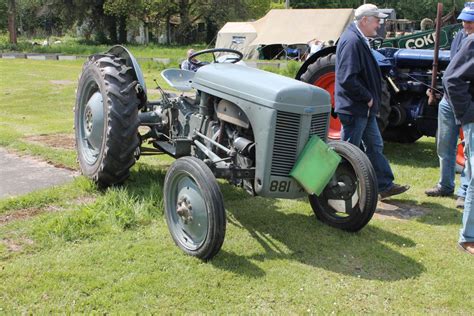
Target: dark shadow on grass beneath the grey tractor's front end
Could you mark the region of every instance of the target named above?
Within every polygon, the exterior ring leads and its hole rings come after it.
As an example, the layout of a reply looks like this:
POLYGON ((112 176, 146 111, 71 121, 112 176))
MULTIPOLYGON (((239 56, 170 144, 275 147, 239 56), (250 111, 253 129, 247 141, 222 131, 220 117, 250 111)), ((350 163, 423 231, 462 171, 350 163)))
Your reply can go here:
MULTIPOLYGON (((411 239, 370 223, 358 233, 344 232, 319 222, 305 200, 290 201, 288 207, 279 210, 281 207, 277 204, 284 200, 249 197, 230 185, 221 185, 221 188, 228 226, 245 229, 251 236, 250 242, 257 242, 258 250, 252 255, 239 256, 229 253, 226 247, 227 251, 211 261, 220 269, 248 275, 249 270, 242 269, 240 264, 226 262, 286 259, 348 276, 383 281, 414 278, 426 270, 421 263, 394 249, 415 247, 411 239)), ((261 272, 253 272, 249 276, 260 275, 261 272)))

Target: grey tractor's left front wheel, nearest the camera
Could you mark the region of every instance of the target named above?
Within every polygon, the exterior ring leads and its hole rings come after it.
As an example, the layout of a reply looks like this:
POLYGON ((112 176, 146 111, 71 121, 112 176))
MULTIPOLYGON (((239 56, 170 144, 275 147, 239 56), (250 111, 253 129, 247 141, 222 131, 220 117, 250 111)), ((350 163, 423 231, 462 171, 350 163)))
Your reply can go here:
POLYGON ((176 245, 209 260, 222 247, 226 219, 222 193, 209 167, 194 157, 176 160, 164 186, 165 216, 176 245))

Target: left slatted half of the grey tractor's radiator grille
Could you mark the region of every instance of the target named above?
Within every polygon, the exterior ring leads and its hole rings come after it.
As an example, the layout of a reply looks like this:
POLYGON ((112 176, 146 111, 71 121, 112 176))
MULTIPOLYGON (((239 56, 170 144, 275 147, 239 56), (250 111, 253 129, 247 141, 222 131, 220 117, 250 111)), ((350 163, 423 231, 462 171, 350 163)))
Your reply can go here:
POLYGON ((299 114, 277 112, 271 169, 272 176, 287 177, 296 162, 300 118, 299 114))

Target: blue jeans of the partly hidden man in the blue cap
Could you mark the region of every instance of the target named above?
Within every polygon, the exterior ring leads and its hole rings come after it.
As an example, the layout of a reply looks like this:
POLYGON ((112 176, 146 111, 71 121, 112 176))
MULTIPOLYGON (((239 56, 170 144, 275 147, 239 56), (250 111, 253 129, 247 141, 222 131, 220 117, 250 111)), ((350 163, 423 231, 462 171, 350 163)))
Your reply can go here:
MULTIPOLYGON (((436 148, 439 157, 440 179, 438 186, 443 191, 454 191, 456 171, 456 147, 459 138, 459 125, 456 125, 454 112, 448 101, 443 98, 438 107, 438 130, 436 148)), ((468 179, 461 173, 461 185, 457 195, 465 197, 468 179)))

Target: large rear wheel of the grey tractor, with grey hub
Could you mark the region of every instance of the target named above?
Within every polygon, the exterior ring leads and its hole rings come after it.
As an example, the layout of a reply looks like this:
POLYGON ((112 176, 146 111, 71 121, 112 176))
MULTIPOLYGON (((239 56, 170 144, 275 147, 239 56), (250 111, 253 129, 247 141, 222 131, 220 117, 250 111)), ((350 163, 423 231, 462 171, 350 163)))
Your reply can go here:
POLYGON ((101 187, 124 182, 139 146, 133 69, 123 59, 96 55, 83 66, 74 108, 76 150, 82 173, 101 187))

